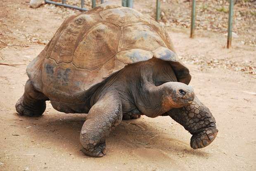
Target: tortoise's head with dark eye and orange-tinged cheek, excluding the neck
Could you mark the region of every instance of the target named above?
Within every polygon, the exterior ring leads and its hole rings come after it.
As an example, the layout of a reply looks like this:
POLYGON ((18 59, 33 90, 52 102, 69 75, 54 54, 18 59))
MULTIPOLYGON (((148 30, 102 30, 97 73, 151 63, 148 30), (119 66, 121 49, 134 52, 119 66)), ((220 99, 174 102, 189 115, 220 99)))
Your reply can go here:
POLYGON ((164 110, 190 105, 194 101, 194 89, 181 82, 166 82, 160 85, 163 90, 162 106, 164 110))

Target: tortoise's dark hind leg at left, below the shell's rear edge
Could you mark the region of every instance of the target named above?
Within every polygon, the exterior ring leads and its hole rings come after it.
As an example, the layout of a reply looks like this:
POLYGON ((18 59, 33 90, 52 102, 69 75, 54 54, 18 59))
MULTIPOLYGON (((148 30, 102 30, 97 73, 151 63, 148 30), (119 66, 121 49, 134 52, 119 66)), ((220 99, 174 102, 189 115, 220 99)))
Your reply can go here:
POLYGON ((45 101, 48 98, 41 92, 36 91, 30 80, 26 82, 25 92, 17 101, 15 108, 19 115, 40 116, 46 108, 45 101))

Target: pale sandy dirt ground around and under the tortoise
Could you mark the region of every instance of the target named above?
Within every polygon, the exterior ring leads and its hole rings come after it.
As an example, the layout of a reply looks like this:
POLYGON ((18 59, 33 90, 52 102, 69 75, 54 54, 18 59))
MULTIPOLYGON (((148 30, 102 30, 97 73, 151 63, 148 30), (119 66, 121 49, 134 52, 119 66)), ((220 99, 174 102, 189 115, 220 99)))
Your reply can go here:
POLYGON ((92 158, 80 151, 85 114, 60 113, 47 103, 44 115, 30 118, 14 108, 24 92, 26 65, 66 15, 78 11, 52 5, 31 9, 28 0, 0 4, 0 63, 22 64, 0 65, 0 171, 256 170, 256 77, 223 65, 249 61, 255 67, 256 47, 234 39, 225 49, 223 33, 197 30, 190 39, 188 28, 168 28, 190 68, 190 84, 216 118, 217 138, 193 150, 191 135, 170 117, 143 116, 123 121, 107 139, 107 155, 92 158), (220 62, 200 63, 198 56, 220 62))

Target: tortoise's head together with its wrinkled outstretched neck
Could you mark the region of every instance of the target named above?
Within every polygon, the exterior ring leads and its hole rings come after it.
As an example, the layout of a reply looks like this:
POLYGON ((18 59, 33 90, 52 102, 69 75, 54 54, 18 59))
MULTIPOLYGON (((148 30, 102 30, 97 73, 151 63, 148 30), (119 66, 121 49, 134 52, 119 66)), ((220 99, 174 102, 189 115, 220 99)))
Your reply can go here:
POLYGON ((168 62, 151 59, 137 65, 139 69, 135 70, 134 66, 131 73, 139 71, 137 75, 140 76, 138 79, 130 78, 130 82, 138 80, 131 92, 135 91, 134 103, 146 116, 157 117, 172 108, 190 105, 194 100, 193 88, 178 82, 168 62))

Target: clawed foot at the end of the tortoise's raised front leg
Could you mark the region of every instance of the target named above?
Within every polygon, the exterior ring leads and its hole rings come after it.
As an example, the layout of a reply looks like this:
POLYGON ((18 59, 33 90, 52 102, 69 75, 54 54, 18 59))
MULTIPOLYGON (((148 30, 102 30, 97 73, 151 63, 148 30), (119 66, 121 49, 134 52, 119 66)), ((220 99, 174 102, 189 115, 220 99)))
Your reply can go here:
POLYGON ((206 128, 199 133, 192 135, 190 139, 190 146, 196 150, 198 148, 204 148, 211 144, 218 134, 216 127, 206 128))

